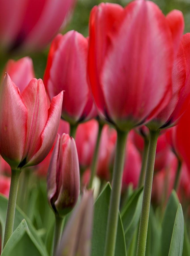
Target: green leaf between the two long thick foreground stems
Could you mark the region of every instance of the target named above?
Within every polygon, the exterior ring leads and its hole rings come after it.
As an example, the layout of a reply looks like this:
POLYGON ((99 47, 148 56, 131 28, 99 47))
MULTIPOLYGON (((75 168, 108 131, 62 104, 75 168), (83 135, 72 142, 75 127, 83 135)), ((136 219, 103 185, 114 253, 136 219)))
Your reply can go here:
POLYGON ((140 188, 133 194, 121 213, 127 249, 140 220, 142 197, 143 191, 140 188))

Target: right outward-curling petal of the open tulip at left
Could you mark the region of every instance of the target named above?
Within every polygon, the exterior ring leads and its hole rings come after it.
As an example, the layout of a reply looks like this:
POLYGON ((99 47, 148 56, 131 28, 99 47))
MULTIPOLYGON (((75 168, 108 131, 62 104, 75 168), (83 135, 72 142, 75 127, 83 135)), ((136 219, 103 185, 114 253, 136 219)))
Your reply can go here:
POLYGON ((60 123, 62 101, 63 91, 52 98, 52 102, 48 110, 48 120, 43 132, 41 133, 41 147, 29 160, 26 166, 39 164, 52 148, 60 123))

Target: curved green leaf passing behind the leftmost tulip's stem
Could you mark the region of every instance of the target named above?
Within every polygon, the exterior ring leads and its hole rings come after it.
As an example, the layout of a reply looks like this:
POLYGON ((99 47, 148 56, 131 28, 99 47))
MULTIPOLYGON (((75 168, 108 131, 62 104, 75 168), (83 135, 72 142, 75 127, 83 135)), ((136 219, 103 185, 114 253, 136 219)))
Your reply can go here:
MULTIPOLYGON (((0 224, 1 224, 1 228, 2 228, 2 242, 3 242, 4 230, 5 230, 7 203, 8 203, 8 199, 5 198, 3 195, 0 195, 0 224)), ((18 206, 16 206, 13 230, 16 230, 16 228, 18 227, 18 225, 20 224, 20 222, 23 219, 26 220, 30 234, 33 236, 34 240, 38 243, 38 245, 42 248, 43 255, 48 255, 47 249, 46 249, 43 241, 41 240, 41 237, 38 235, 37 230, 31 223, 29 218, 26 216, 26 214, 24 214, 24 212, 22 212, 22 210, 18 206)), ((19 255, 19 254, 17 254, 17 255, 19 255)))

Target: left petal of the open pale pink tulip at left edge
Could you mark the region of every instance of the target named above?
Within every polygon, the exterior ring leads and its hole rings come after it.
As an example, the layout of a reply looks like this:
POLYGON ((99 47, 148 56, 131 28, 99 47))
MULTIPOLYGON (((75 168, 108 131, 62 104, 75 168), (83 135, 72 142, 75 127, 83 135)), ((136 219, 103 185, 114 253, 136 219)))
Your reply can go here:
POLYGON ((8 74, 1 85, 0 95, 0 154, 14 169, 22 160, 28 111, 8 74))

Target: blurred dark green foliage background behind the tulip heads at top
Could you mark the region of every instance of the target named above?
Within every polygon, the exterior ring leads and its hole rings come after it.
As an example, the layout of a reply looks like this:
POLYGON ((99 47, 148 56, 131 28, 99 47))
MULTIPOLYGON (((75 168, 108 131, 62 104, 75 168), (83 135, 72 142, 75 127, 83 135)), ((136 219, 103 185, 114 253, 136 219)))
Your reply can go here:
MULTIPOLYGON (((83 36, 88 36, 88 20, 91 9, 94 5, 98 5, 101 2, 109 2, 109 3, 117 3, 126 6, 130 1, 128 0, 108 0, 108 1, 100 1, 100 0, 78 0, 67 24, 66 28, 61 31, 62 34, 65 34, 69 30, 76 30, 83 34, 83 36)), ((185 19, 185 30, 184 33, 190 32, 190 0, 154 0, 154 2, 160 7, 162 12, 166 15, 173 9, 178 9, 182 11, 185 19)), ((49 45, 50 46, 50 45, 49 45)), ((33 54, 29 54, 29 56, 33 59, 34 69, 36 78, 43 78, 43 74, 46 67, 47 55, 49 46, 42 52, 37 52, 33 54)), ((1 57, 0 61, 0 69, 3 70, 5 63, 8 58, 11 59, 19 59, 24 57, 24 55, 20 56, 4 56, 1 57)))

